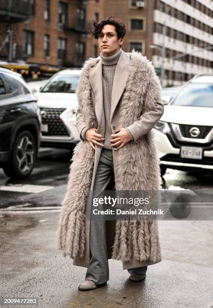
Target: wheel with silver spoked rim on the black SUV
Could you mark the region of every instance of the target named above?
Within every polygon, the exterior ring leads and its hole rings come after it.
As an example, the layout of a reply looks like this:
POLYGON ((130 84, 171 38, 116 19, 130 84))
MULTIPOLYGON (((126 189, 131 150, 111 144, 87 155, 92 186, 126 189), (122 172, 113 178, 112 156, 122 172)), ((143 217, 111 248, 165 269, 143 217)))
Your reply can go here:
POLYGON ((35 139, 29 131, 22 131, 14 141, 11 160, 3 167, 3 170, 10 178, 24 179, 33 171, 35 162, 35 139))

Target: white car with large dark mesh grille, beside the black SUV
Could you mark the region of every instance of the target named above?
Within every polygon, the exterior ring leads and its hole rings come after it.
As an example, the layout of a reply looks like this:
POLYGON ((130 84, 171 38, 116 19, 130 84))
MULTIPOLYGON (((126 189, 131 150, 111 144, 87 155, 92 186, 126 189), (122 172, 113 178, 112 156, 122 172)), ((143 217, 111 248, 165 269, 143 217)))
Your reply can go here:
POLYGON ((41 146, 72 148, 80 139, 76 129, 80 69, 64 69, 36 93, 42 118, 41 146))

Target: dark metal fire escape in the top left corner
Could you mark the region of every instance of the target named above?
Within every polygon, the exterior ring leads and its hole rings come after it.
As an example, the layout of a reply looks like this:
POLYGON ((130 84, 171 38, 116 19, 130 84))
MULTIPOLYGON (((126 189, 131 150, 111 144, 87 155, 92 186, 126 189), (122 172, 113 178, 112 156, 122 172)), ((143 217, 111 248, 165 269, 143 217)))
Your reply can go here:
POLYGON ((0 54, 4 51, 8 61, 13 60, 14 27, 17 23, 30 18, 29 0, 1 0, 0 1, 0 54), (5 26, 5 27, 4 27, 5 26))

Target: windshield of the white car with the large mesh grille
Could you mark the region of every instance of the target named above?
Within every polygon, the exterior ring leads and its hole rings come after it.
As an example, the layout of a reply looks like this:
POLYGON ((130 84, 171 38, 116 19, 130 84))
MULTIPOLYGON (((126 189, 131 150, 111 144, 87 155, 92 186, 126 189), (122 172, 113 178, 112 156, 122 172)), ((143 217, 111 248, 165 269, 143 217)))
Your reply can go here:
POLYGON ((79 75, 56 75, 41 92, 75 93, 79 75))

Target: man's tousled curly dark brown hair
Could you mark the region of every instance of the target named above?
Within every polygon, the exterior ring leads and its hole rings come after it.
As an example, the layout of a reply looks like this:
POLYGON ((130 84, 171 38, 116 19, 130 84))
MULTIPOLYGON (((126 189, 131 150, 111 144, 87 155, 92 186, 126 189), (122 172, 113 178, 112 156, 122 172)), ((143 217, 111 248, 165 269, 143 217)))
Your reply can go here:
POLYGON ((118 39, 120 39, 121 37, 125 37, 126 35, 126 27, 125 24, 118 18, 116 17, 108 17, 107 19, 102 20, 99 23, 96 23, 93 20, 93 26, 94 26, 94 31, 91 31, 92 36, 95 39, 98 39, 98 35, 101 33, 101 30, 103 28, 103 26, 105 25, 113 25, 116 28, 116 32, 118 35, 118 39))

